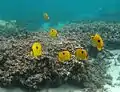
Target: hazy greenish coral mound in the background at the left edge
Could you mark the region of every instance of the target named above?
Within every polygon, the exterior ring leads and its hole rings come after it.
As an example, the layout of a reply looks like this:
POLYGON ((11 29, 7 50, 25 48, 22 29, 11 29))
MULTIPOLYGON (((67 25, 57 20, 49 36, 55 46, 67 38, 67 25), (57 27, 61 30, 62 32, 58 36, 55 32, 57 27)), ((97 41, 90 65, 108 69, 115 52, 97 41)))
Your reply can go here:
POLYGON ((0 36, 11 37, 14 36, 19 38, 21 36, 26 37, 27 31, 17 25, 16 20, 4 21, 0 20, 0 36))

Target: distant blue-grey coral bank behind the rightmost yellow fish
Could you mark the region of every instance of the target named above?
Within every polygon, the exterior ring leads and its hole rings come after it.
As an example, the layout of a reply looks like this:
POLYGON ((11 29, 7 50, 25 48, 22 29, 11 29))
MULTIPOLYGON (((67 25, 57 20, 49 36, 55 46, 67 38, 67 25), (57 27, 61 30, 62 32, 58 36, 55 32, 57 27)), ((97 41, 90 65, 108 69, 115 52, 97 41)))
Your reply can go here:
POLYGON ((103 22, 103 21, 80 21, 67 24, 62 32, 95 32, 102 35, 105 41, 105 46, 108 49, 120 49, 120 23, 117 22, 103 22))

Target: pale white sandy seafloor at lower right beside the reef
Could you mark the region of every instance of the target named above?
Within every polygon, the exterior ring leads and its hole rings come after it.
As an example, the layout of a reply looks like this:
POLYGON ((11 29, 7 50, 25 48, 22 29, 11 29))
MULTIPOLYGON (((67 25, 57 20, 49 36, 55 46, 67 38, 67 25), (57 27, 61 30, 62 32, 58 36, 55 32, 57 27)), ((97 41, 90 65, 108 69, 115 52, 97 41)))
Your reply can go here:
POLYGON ((108 92, 120 92, 120 84, 117 80, 119 73, 120 73, 120 64, 118 66, 115 65, 115 62, 117 62, 117 57, 120 55, 120 50, 112 50, 112 53, 114 53, 114 59, 111 59, 111 67, 108 70, 108 73, 113 77, 112 84, 113 86, 105 85, 105 88, 108 88, 108 92))

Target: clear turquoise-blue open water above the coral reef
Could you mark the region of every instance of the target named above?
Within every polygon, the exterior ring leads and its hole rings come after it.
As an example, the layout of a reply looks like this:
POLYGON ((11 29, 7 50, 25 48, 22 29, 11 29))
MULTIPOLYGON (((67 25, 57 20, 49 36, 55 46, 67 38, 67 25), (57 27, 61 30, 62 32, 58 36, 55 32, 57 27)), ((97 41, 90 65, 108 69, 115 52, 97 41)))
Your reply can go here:
POLYGON ((120 20, 120 0, 0 0, 0 19, 17 20, 20 25, 39 28, 45 23, 79 20, 120 20))

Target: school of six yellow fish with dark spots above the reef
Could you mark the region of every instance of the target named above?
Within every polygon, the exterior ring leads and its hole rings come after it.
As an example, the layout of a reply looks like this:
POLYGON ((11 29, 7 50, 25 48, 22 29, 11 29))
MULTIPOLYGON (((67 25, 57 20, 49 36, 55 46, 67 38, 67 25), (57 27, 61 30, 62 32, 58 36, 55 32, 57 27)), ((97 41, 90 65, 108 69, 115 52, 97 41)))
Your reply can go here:
MULTIPOLYGON (((49 16, 47 13, 43 14, 45 20, 49 20, 49 16)), ((54 28, 51 28, 48 34, 52 38, 58 37, 58 31, 54 28)), ((91 36, 91 45, 96 47, 98 51, 103 50, 104 42, 102 37, 96 33, 95 35, 91 36)), ((35 58, 42 56, 42 45, 40 42, 34 42, 31 47, 31 55, 35 58)), ((74 56, 78 61, 80 60, 88 60, 88 53, 83 48, 76 48, 74 56)), ((58 52, 57 59, 59 62, 66 62, 70 61, 72 58, 71 53, 68 50, 63 50, 58 52)))

